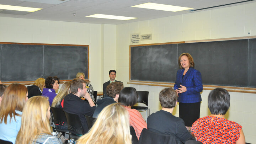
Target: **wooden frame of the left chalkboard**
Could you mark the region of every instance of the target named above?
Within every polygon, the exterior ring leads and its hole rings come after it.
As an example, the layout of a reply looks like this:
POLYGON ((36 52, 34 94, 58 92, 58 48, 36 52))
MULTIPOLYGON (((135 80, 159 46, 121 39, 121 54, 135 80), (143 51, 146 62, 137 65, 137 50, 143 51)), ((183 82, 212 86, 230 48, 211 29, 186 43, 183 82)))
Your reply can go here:
MULTIPOLYGON (((81 44, 48 44, 48 43, 18 43, 18 42, 0 42, 1 44, 15 44, 15 45, 35 45, 35 46, 72 46, 72 47, 87 47, 87 76, 88 79, 85 79, 85 81, 90 82, 89 79, 89 62, 90 62, 90 54, 89 54, 89 45, 81 45, 81 44)), ((1 68, 0 68, 1 69, 1 68)), ((86 77, 85 76, 85 77, 86 77)), ((64 81, 71 81, 70 79, 62 79, 60 82, 64 81)), ((21 84, 31 84, 34 82, 33 80, 24 80, 24 81, 2 81, 3 84, 11 84, 11 83, 21 83, 21 84)))

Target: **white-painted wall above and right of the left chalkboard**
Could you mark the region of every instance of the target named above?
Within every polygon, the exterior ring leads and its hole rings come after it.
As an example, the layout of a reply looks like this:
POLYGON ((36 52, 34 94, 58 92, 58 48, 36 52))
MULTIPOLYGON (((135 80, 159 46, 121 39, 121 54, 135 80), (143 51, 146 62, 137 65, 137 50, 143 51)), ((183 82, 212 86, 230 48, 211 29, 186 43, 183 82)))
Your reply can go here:
POLYGON ((101 29, 98 24, 0 17, 0 42, 89 45, 89 80, 102 91, 101 29))

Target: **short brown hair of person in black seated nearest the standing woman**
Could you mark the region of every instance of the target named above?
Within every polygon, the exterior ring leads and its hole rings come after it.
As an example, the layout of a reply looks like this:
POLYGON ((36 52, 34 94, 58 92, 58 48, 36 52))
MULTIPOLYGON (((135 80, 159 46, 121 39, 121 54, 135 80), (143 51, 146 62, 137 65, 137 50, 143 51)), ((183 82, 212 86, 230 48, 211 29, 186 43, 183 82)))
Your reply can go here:
POLYGON ((173 108, 176 106, 177 92, 171 87, 165 88, 159 93, 159 101, 164 108, 173 108))

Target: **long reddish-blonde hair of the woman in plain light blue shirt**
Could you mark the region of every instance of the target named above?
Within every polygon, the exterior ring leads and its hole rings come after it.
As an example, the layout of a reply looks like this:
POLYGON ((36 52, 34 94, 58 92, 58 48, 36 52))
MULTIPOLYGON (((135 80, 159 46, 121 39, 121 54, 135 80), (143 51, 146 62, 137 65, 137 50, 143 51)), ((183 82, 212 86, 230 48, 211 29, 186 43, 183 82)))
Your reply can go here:
POLYGON ((12 117, 21 116, 16 113, 15 110, 21 111, 26 103, 27 87, 22 84, 10 84, 6 87, 2 96, 2 102, 0 106, 0 123, 4 121, 7 124, 7 117, 10 116, 10 123, 12 117))

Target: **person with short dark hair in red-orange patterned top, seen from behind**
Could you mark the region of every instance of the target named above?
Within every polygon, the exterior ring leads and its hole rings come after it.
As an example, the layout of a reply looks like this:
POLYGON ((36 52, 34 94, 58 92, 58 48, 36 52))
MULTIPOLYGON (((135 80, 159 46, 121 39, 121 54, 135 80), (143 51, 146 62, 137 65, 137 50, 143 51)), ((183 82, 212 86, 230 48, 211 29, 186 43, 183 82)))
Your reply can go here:
POLYGON ((222 88, 212 90, 208 96, 210 116, 197 119, 192 133, 203 144, 245 144, 240 124, 225 119, 230 106, 230 95, 222 88))

